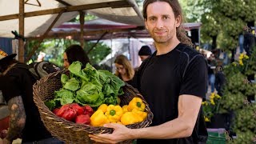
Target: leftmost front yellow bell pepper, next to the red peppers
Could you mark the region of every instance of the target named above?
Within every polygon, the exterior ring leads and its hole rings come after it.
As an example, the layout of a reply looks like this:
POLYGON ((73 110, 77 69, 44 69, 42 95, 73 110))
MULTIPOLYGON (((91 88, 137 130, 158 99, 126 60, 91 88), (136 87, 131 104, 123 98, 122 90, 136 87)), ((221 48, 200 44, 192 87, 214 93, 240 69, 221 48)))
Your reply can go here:
POLYGON ((91 126, 103 126, 106 123, 110 123, 110 121, 106 118, 102 110, 96 110, 90 117, 91 126))

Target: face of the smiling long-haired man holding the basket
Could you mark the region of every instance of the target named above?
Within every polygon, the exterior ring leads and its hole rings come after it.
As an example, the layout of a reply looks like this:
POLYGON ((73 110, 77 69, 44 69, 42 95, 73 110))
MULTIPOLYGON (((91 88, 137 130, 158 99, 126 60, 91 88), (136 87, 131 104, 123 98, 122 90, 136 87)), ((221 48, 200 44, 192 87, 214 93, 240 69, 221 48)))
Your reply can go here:
POLYGON ((167 2, 150 3, 146 9, 146 29, 157 43, 170 42, 176 37, 176 28, 181 18, 174 18, 174 11, 167 2))

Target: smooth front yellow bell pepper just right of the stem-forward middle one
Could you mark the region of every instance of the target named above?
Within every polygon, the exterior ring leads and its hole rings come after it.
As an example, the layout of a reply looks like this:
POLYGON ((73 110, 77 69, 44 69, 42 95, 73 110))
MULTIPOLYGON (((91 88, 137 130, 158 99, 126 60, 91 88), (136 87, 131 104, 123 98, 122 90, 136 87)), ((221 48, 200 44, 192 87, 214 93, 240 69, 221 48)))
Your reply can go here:
POLYGON ((121 122, 123 125, 131 125, 139 122, 139 118, 134 112, 126 112, 125 114, 122 114, 121 122))

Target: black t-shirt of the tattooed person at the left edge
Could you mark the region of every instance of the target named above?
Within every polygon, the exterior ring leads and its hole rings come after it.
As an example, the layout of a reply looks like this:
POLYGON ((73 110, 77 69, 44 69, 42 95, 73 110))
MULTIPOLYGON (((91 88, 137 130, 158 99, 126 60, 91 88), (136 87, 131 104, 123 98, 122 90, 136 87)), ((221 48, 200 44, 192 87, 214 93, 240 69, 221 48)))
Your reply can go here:
POLYGON ((43 138, 50 138, 51 134, 43 125, 38 108, 34 104, 32 86, 35 80, 30 74, 30 71, 25 67, 25 64, 18 63, 10 69, 1 78, 1 81, 5 83, 1 89, 6 102, 16 96, 22 96, 26 111, 26 125, 22 130, 22 142, 32 142, 43 138))

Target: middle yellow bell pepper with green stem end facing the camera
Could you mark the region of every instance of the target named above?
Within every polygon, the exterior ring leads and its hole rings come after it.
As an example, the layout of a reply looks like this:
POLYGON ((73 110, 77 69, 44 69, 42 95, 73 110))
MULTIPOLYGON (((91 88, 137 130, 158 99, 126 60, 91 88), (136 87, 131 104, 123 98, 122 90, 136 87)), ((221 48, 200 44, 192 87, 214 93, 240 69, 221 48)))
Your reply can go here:
POLYGON ((122 116, 122 107, 114 105, 107 106, 105 115, 110 122, 118 122, 122 116))

